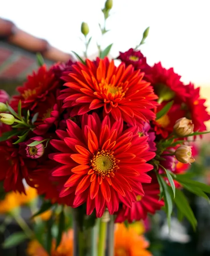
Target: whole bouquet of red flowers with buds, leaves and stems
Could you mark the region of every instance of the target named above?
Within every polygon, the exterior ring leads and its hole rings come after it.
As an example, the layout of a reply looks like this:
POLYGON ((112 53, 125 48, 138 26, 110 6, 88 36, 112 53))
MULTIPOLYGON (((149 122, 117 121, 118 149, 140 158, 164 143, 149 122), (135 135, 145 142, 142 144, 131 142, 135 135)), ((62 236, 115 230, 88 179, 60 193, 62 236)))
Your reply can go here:
MULTIPOLYGON (((102 9, 105 21, 112 0, 102 9)), ((138 50, 120 52, 117 61, 98 45, 90 60, 91 37, 82 23, 84 58, 40 67, 11 99, 0 92, 0 180, 6 192, 25 193, 23 179, 36 188, 43 204, 35 214, 70 206, 74 217, 75 255, 85 255, 86 230, 99 226, 97 256, 105 255, 109 222, 109 255, 113 255, 113 222, 145 219, 164 206, 168 222, 179 216, 196 227, 183 193, 208 198, 210 187, 187 173, 192 142, 206 133, 210 119, 199 88, 183 84, 173 68, 150 67, 138 50)), ((102 35, 107 33, 101 26, 102 35)), ((62 214, 61 210, 61 216, 62 214)), ((62 223, 59 222, 59 234, 62 223)), ((50 226, 48 227, 51 228, 50 226)), ((59 235, 58 240, 61 240, 59 235)), ((94 244, 94 243, 93 243, 94 244)))

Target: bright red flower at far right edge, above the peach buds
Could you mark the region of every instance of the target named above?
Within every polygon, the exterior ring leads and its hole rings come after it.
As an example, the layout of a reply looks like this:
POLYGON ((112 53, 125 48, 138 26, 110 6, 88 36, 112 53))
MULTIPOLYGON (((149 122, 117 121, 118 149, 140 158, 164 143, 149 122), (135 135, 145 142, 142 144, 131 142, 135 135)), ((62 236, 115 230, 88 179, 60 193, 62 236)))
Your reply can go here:
POLYGON ((186 118, 189 118, 193 121, 194 131, 204 131, 206 126, 205 121, 210 120, 210 115, 206 111, 204 105, 205 99, 200 98, 200 88, 194 88, 194 84, 186 85, 186 90, 189 93, 190 97, 186 98, 186 118))

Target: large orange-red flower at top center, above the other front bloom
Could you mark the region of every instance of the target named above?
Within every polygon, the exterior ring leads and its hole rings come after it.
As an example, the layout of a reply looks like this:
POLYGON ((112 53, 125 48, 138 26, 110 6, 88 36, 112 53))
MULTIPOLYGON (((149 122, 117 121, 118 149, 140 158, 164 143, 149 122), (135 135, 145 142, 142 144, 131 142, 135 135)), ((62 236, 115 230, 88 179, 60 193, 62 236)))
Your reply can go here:
POLYGON ((130 65, 119 67, 109 59, 86 60, 86 66, 76 63, 73 71, 65 76, 69 87, 63 90, 61 99, 64 108, 73 108, 71 116, 82 115, 90 110, 103 107, 104 115, 111 113, 115 120, 123 120, 133 126, 140 126, 154 119, 157 96, 149 83, 142 80, 143 73, 133 71, 130 65))

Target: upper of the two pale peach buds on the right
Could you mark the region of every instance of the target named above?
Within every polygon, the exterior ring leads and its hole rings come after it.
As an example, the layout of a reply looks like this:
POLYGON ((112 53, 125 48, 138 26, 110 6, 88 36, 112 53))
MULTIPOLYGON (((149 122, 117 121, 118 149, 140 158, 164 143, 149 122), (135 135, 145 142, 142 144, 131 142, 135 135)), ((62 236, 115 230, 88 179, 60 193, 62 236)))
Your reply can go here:
POLYGON ((174 125, 174 132, 180 137, 185 137, 193 133, 193 130, 194 124, 192 120, 189 120, 187 118, 178 119, 174 125))

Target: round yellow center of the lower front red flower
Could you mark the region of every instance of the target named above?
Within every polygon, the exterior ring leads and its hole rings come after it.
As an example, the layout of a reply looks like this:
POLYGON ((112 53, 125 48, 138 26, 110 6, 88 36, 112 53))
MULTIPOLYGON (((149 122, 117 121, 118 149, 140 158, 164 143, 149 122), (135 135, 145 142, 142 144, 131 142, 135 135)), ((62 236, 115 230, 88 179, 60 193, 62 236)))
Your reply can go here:
POLYGON ((114 176, 114 171, 119 168, 117 166, 119 160, 115 159, 113 152, 106 150, 97 151, 90 162, 95 174, 101 175, 103 178, 114 176))

